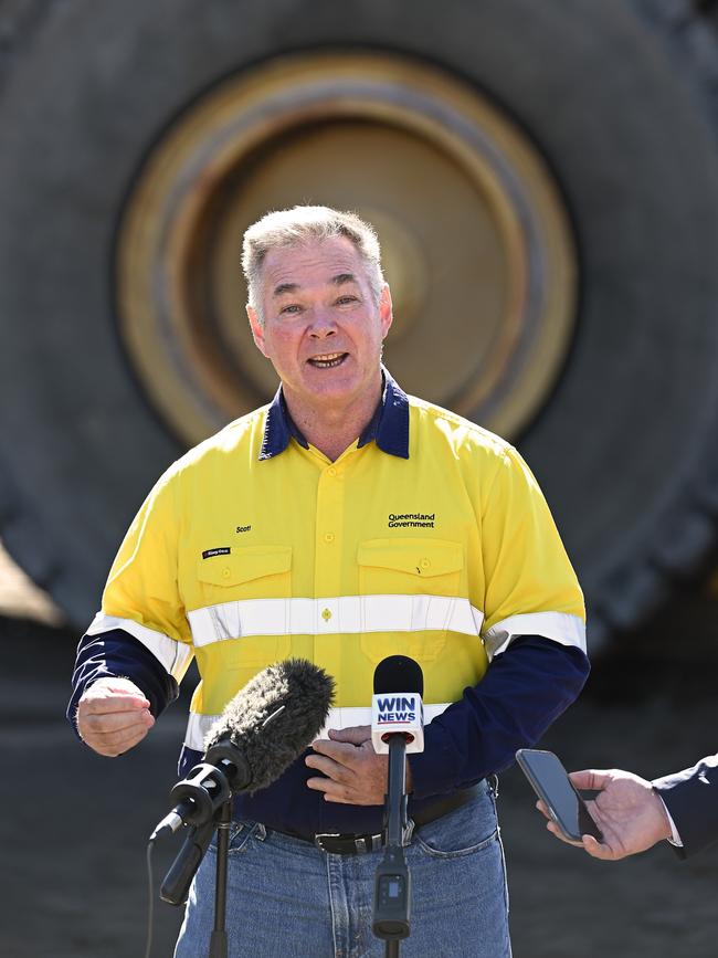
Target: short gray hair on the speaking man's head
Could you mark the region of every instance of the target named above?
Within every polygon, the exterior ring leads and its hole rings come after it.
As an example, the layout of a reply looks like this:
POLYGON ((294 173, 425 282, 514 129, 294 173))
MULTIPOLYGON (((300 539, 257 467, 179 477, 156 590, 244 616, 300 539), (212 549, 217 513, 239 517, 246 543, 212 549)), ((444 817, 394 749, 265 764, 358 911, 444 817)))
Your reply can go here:
POLYGON ((271 250, 297 246, 302 243, 346 236, 350 240, 365 265, 367 278, 377 303, 384 286, 381 272, 381 251, 373 228, 356 213, 332 210, 329 207, 294 207, 266 213, 247 228, 242 244, 242 269, 246 280, 247 302, 262 316, 262 265, 271 250))

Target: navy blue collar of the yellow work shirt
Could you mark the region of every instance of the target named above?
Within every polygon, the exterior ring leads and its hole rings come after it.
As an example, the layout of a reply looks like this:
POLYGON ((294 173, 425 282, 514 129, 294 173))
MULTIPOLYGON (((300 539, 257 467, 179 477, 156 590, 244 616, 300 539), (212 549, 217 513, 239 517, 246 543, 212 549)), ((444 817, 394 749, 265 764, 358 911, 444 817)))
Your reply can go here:
MULTIPOLYGON (((382 452, 400 459, 409 459, 409 400, 406 393, 383 366, 381 373, 384 382, 382 397, 357 444, 361 449, 373 440, 382 452)), ((272 459, 284 452, 291 439, 296 439, 304 449, 309 448, 309 443, 289 415, 279 387, 267 409, 260 459, 272 459)))

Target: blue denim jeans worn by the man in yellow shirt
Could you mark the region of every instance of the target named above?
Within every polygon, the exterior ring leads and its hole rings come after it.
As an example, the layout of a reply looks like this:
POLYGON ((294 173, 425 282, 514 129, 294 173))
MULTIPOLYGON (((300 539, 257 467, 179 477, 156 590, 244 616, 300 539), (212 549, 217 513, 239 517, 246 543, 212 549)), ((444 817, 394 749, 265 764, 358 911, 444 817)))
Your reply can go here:
MULTIPOLYGON (((234 822, 228 862, 230 958, 382 958, 371 931, 383 850, 334 855, 257 822, 234 822)), ((414 831, 411 935, 402 958, 510 958, 508 893, 493 791, 414 831)), ((205 958, 217 850, 196 875, 175 958, 205 958)))

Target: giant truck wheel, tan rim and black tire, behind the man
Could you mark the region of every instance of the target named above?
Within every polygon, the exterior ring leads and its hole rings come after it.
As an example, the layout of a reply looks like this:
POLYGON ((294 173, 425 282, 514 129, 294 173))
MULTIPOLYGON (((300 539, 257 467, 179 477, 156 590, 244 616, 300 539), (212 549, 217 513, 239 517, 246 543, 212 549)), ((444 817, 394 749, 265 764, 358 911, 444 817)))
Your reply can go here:
POLYGON ((305 200, 377 221, 388 365, 525 452, 594 643, 655 607, 718 497, 716 43, 665 10, 13 4, 0 534, 72 621, 167 463, 267 399, 237 238, 305 200))

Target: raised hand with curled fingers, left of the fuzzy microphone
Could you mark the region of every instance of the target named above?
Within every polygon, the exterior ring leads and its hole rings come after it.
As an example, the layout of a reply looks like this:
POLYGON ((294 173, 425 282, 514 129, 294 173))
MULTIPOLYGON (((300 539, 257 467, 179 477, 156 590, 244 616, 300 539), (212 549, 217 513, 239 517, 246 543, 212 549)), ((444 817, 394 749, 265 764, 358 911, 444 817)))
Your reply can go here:
POLYGON ((110 758, 141 741, 152 725, 149 702, 129 678, 98 678, 77 705, 80 737, 110 758))

